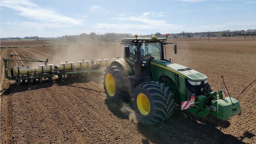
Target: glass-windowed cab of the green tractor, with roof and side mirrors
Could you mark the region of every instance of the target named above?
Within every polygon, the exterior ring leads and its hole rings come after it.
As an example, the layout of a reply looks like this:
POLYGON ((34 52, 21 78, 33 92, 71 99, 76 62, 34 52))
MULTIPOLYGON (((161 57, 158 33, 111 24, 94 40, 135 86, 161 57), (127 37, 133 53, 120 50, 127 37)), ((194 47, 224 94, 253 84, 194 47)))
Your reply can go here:
MULTIPOLYGON (((144 75, 149 73, 150 61, 152 59, 166 60, 163 56, 163 48, 165 44, 169 44, 164 43, 167 40, 167 37, 168 35, 166 35, 166 38, 157 38, 155 35, 153 35, 151 38, 137 38, 137 34, 135 34, 135 38, 121 39, 121 44, 124 44, 125 47, 124 59, 132 68, 132 71, 134 72, 134 62, 136 59, 141 61, 141 63, 138 63, 139 66, 137 66, 137 68, 141 67, 144 75), (138 51, 140 51, 140 54, 138 54, 138 51)), ((176 45, 175 47, 177 48, 176 45)))

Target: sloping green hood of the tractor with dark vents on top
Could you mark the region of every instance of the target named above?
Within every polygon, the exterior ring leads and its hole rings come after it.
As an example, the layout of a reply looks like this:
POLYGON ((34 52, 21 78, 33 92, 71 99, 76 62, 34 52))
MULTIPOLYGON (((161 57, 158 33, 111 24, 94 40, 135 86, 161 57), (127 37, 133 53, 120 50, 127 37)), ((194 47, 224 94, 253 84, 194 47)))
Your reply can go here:
POLYGON ((152 59, 150 64, 156 65, 164 69, 168 69, 169 71, 177 73, 179 76, 183 76, 190 81, 205 81, 206 79, 208 79, 207 76, 203 75, 202 73, 190 69, 186 66, 178 65, 177 63, 152 59))

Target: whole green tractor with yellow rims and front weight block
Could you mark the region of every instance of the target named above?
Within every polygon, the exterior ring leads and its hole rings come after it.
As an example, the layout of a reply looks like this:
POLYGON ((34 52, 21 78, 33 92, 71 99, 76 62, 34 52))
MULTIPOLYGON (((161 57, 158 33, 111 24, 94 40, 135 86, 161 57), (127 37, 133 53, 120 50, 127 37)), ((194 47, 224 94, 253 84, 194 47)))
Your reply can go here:
MULTIPOLYGON (((168 119, 175 105, 192 114, 209 113, 229 120, 241 114, 237 100, 223 98, 222 91, 212 91, 207 76, 164 58, 166 38, 123 38, 124 59, 113 61, 105 69, 103 84, 110 101, 132 101, 136 117, 142 123, 168 119)), ((166 57, 166 56, 165 56, 166 57)))

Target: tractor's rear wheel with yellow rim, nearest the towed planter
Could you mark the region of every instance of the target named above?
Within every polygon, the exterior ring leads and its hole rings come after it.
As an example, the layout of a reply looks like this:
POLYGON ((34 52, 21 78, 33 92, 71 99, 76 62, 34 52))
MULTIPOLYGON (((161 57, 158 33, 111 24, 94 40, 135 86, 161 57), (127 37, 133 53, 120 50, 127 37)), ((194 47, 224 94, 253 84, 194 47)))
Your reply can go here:
POLYGON ((120 66, 111 65, 105 69, 103 85, 110 101, 129 101, 127 76, 120 66))

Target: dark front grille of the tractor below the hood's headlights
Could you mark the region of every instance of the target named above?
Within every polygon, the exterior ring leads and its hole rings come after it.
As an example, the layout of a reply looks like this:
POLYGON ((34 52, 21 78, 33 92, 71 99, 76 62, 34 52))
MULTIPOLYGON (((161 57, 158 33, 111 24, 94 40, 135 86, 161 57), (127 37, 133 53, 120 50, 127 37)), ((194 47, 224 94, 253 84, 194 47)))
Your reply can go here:
POLYGON ((191 94, 195 94, 196 96, 205 95, 206 84, 202 81, 200 85, 191 85, 188 80, 185 79, 185 91, 187 100, 190 100, 191 94), (201 88, 203 88, 203 91, 201 91, 201 88))

